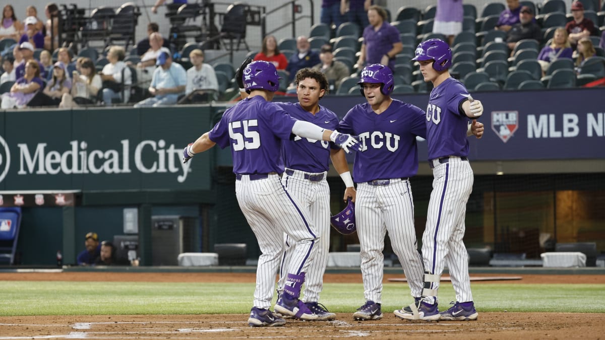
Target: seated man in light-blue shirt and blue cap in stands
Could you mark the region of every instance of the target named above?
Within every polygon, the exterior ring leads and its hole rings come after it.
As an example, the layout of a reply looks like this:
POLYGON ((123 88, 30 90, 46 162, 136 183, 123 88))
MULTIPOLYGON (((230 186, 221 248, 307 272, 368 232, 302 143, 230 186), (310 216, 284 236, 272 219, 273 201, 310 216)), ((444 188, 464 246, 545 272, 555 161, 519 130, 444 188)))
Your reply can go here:
POLYGON ((136 108, 173 105, 177 103, 178 96, 185 93, 187 73, 180 64, 172 62, 170 53, 165 51, 160 53, 155 64, 160 67, 155 68, 149 86, 149 93, 154 97, 136 103, 134 105, 136 108))

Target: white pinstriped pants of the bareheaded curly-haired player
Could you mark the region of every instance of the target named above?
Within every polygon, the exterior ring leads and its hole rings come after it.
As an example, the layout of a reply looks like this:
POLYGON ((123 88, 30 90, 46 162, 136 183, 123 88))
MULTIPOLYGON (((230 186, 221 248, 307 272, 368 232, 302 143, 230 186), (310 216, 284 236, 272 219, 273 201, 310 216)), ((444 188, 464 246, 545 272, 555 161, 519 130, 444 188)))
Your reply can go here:
MULTIPOLYGON (((305 276, 306 286, 304 298, 302 298, 305 302, 318 302, 330 248, 330 187, 325 178, 321 181, 309 181, 304 179, 303 175, 303 172, 295 171, 293 175, 284 174, 281 181, 290 195, 296 197, 296 200, 300 202, 301 208, 309 212, 313 230, 318 235, 315 258, 308 261, 309 267, 305 276)), ((284 256, 278 282, 280 290, 286 280, 284 266, 290 263, 292 253, 289 237, 284 235, 284 256)))

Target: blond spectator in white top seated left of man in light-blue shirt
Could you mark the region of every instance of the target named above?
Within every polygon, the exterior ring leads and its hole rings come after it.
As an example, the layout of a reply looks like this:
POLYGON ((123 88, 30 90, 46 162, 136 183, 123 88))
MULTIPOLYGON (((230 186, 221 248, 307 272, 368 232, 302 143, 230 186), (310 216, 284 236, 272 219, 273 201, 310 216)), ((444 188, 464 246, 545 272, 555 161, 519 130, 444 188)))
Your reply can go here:
POLYGON ((101 80, 103 80, 105 106, 111 106, 112 99, 120 99, 123 103, 128 103, 130 99, 130 92, 122 91, 124 85, 132 84, 132 73, 123 61, 125 56, 126 52, 121 46, 112 46, 107 53, 109 63, 103 67, 100 73, 101 80))

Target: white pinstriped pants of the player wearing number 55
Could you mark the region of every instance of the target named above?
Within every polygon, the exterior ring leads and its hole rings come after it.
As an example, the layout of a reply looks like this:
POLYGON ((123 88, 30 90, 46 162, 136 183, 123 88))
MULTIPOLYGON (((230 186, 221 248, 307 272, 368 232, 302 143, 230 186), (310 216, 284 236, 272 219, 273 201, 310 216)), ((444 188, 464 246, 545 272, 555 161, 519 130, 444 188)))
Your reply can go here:
POLYGON ((254 307, 269 309, 280 267, 282 235, 286 233, 293 242, 286 272, 297 274, 306 271, 307 259, 315 256, 316 236, 309 225, 309 215, 284 189, 278 175, 255 181, 244 175, 235 181, 235 195, 262 252, 258 258, 254 307))

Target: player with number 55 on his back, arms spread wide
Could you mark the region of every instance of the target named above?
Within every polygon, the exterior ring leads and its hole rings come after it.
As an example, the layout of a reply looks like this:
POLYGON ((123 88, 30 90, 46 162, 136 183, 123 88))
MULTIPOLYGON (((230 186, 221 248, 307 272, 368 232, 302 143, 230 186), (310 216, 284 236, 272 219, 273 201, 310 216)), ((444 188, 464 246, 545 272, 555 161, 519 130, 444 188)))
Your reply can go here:
POLYGON ((286 323, 269 310, 284 232, 293 242, 293 254, 285 270, 286 283, 275 310, 282 315, 313 320, 317 315, 299 300, 299 295, 319 237, 306 209, 281 184, 278 175, 284 172, 280 157, 281 140, 295 134, 332 141, 345 151, 357 150, 359 143, 347 134, 293 119, 280 106, 270 102, 280 85, 273 64, 255 61, 241 67, 241 70, 243 74, 238 72, 238 79, 243 76, 245 85, 241 85, 249 97, 225 111, 211 131, 186 146, 183 162, 214 145, 221 148, 231 146, 237 201, 262 252, 258 258, 257 288, 248 324, 255 327, 286 323))

